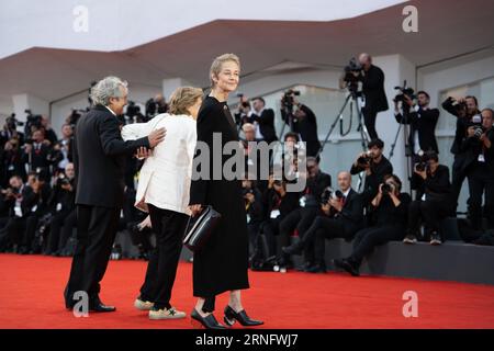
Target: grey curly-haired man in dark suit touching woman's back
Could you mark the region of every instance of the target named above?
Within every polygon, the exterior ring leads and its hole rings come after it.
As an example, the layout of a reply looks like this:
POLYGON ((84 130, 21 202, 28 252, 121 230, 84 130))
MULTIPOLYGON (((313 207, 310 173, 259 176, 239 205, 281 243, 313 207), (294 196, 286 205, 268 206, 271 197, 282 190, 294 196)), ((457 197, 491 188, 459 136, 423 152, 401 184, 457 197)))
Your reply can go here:
POLYGON ((89 310, 113 312, 99 297, 100 281, 106 270, 124 202, 124 171, 127 155, 153 148, 165 138, 157 129, 137 140, 124 141, 117 115, 127 103, 126 82, 106 77, 91 89, 94 106, 77 123, 75 139, 77 247, 65 290, 67 308, 86 292, 89 310))

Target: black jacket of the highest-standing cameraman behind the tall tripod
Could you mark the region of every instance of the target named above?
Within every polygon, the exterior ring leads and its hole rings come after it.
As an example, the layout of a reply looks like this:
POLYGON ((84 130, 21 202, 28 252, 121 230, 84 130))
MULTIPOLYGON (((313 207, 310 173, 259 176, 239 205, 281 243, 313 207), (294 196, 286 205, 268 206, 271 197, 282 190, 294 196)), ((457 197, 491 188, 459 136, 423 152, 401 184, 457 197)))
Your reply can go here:
POLYGON ((371 65, 369 70, 360 76, 362 92, 366 97, 366 110, 372 112, 386 111, 388 98, 384 91, 384 72, 378 66, 371 65))

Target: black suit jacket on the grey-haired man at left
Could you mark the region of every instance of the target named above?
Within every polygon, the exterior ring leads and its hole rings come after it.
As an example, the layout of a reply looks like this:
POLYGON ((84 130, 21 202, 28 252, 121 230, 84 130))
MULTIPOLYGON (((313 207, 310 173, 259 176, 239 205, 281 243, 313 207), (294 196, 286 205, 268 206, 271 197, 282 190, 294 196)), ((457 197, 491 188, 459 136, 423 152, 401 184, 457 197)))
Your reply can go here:
POLYGON ((76 204, 121 207, 125 157, 139 147, 149 148, 148 138, 124 141, 117 118, 105 106, 97 105, 77 122, 74 144, 76 204))

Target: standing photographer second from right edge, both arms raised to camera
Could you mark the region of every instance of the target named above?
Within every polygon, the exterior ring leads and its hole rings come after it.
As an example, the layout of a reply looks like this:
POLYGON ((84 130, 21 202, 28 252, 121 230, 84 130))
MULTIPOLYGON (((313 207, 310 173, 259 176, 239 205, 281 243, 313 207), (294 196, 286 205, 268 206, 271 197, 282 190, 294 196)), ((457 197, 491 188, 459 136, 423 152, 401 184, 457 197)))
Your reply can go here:
POLYGON ((453 202, 452 215, 456 216, 458 207, 458 197, 460 196, 461 186, 467 174, 464 172, 465 155, 461 152, 461 144, 467 137, 467 128, 472 121, 472 117, 480 114, 479 103, 475 97, 469 95, 459 100, 448 97, 442 102, 442 109, 457 117, 457 127, 454 132, 454 140, 451 145, 451 154, 454 155, 451 177, 451 200, 453 202))

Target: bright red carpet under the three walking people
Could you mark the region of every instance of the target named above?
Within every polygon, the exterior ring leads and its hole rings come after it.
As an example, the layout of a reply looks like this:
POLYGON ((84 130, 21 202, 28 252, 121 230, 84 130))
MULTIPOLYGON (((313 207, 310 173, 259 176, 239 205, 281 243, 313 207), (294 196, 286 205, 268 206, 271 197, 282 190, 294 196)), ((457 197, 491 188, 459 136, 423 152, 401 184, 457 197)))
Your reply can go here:
MULTIPOLYGON (((146 262, 111 261, 101 298, 116 313, 75 318, 63 290, 70 259, 0 254, 0 328, 191 328, 189 318, 151 321, 134 309, 146 262)), ((172 304, 188 314, 192 264, 180 263, 172 304)), ((494 328, 494 286, 343 273, 250 272, 244 305, 265 328, 494 328), (418 294, 418 317, 402 314, 405 291, 418 294)), ((217 299, 216 317, 227 302, 217 299)))

